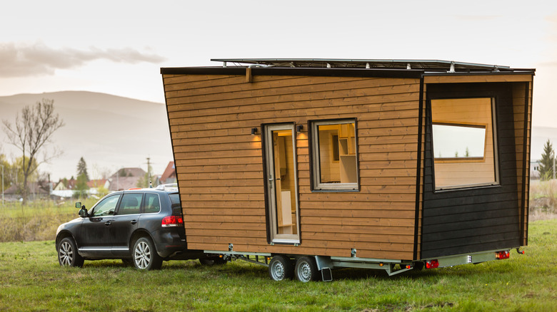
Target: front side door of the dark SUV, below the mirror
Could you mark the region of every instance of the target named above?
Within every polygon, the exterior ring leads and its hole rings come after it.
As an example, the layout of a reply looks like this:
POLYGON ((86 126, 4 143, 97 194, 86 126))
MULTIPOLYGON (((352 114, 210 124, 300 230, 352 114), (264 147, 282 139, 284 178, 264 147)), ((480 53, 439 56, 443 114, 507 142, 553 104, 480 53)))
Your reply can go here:
POLYGON ((106 197, 97 203, 81 224, 82 256, 101 257, 111 254, 110 227, 121 194, 106 197))

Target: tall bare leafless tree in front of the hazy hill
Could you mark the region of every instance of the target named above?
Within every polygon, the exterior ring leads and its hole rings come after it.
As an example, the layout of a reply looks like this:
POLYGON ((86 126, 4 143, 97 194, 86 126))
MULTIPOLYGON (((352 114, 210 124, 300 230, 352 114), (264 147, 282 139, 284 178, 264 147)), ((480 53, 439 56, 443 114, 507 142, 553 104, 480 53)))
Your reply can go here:
POLYGON ((21 110, 21 115, 19 113, 16 115, 14 125, 11 125, 8 120, 2 120, 2 123, 9 143, 23 152, 21 167, 24 181, 21 197, 23 199, 22 204, 26 204, 29 194, 29 188, 27 187, 29 175, 42 162, 48 162, 51 158, 59 155, 59 153, 54 152, 53 155, 49 156, 45 152, 44 159, 39 161, 38 153, 46 143, 50 142, 54 132, 64 125, 64 120, 61 120, 58 114, 54 114, 54 100, 43 99, 33 107, 25 106, 21 110))

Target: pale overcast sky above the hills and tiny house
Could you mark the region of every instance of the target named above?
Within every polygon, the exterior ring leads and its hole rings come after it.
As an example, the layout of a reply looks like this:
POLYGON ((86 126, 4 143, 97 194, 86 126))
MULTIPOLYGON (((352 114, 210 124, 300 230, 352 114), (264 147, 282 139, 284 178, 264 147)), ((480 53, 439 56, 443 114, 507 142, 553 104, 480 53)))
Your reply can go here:
POLYGON ((557 116, 557 1, 9 1, 0 95, 89 90, 164 103, 159 68, 210 58, 404 58, 536 68, 557 116))

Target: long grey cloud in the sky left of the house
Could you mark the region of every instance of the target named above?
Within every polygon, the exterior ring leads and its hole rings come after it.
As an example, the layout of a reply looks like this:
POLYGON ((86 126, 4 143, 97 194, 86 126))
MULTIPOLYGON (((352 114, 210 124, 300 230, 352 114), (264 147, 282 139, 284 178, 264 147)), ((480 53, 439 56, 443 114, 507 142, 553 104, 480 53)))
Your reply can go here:
POLYGON ((84 66, 87 62, 108 60, 116 63, 160 63, 165 58, 153 53, 141 53, 133 48, 89 50, 55 49, 38 42, 31 45, 0 43, 0 77, 54 75, 57 69, 84 66))

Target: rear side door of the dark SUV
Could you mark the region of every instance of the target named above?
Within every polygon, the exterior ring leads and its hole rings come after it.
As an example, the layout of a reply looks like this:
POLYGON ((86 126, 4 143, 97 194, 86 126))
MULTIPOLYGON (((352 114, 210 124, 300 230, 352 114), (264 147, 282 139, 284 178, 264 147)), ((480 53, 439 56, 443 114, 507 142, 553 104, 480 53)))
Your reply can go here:
POLYGON ((129 256, 129 239, 137 229, 143 192, 124 193, 110 228, 112 254, 129 256))

